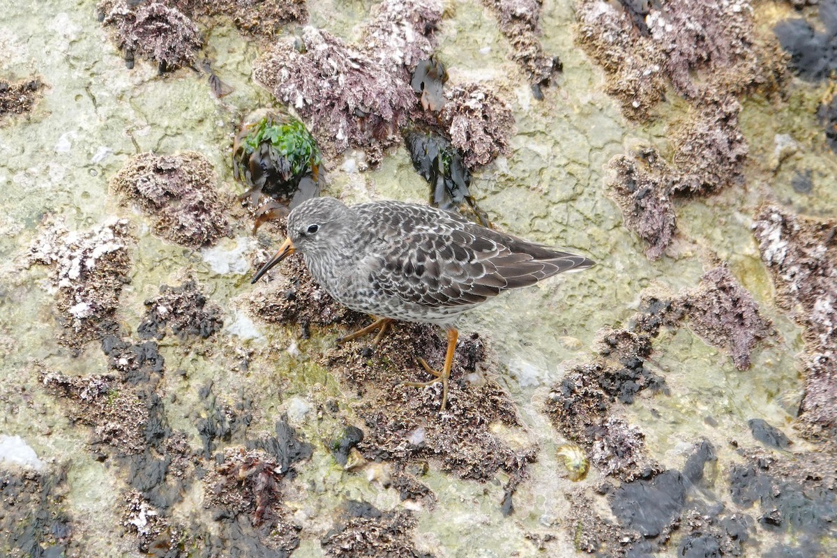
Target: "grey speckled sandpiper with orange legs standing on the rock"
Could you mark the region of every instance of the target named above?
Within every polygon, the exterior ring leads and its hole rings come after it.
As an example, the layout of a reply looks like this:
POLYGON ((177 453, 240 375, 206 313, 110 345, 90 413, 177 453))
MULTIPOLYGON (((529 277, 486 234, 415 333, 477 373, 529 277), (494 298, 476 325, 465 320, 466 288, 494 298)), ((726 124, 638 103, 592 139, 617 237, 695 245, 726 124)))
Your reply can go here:
POLYGON ((457 316, 506 289, 526 287, 593 261, 558 252, 511 234, 480 227, 459 215, 413 203, 381 201, 347 207, 333 197, 302 202, 288 215, 288 238, 255 274, 253 283, 291 253, 300 252, 317 283, 352 310, 373 315, 371 325, 341 338, 355 339, 393 320, 438 324, 447 331, 444 368, 425 382, 448 378, 459 332, 457 316))

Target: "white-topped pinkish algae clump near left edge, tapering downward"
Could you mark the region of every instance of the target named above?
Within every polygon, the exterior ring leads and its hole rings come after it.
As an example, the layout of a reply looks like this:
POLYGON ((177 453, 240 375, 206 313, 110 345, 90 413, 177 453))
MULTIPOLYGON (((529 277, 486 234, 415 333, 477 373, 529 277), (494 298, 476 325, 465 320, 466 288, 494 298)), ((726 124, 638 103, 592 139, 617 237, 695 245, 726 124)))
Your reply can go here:
POLYGON ((28 265, 52 266, 58 289, 55 306, 59 343, 80 352, 87 341, 118 329, 116 309, 130 282, 129 250, 135 239, 125 219, 110 219, 89 232, 70 231, 63 218, 47 216, 44 230, 29 248, 28 265))

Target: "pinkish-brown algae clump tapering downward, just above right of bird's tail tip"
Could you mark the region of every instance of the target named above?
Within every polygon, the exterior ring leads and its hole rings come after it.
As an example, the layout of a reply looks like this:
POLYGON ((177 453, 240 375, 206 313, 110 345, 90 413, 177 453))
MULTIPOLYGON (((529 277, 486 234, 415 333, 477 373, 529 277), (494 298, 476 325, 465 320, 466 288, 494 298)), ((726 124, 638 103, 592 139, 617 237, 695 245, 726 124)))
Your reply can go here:
POLYGON ((676 229, 675 208, 670 194, 680 176, 653 148, 635 156, 616 156, 609 164, 615 171, 608 192, 622 210, 624 224, 649 247, 648 259, 659 259, 676 229))

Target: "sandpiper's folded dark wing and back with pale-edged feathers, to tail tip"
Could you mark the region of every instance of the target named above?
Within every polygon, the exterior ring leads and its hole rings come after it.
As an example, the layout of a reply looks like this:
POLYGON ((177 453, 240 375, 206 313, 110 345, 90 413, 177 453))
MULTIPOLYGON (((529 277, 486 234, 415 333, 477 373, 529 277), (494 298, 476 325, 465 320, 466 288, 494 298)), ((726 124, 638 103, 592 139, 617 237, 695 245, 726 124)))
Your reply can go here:
POLYGON ((365 262, 384 293, 431 308, 468 307, 506 289, 537 283, 593 262, 505 233, 482 228, 434 207, 388 202, 358 206, 372 211, 381 233, 365 262), (431 224, 428 224, 431 223, 431 224))

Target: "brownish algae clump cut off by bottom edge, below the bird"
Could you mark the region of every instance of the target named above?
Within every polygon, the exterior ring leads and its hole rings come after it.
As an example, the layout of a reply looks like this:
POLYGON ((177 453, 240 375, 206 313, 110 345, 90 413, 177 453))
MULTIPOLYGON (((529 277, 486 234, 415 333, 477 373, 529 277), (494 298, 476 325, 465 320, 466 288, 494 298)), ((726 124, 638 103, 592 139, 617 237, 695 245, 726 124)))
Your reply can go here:
POLYGON ((383 512, 350 501, 343 517, 321 540, 326 556, 412 556, 431 558, 413 546, 417 521, 406 510, 383 512))

